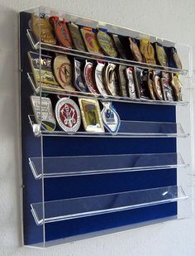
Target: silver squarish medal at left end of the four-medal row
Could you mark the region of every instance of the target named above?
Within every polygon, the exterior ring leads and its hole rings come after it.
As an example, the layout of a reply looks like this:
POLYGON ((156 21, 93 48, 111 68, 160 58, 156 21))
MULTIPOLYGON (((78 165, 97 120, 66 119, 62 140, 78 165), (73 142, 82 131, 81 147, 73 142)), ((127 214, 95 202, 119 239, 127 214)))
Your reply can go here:
POLYGON ((45 131, 54 131, 56 122, 53 114, 52 104, 49 98, 31 96, 31 105, 36 122, 40 123, 40 128, 45 131))

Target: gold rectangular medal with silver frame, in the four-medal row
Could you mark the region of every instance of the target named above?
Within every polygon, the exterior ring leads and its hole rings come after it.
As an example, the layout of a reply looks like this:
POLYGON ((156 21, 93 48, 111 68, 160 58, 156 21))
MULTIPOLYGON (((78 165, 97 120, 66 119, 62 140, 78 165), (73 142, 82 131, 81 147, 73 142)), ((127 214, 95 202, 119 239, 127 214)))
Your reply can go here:
POLYGON ((83 127, 89 133, 104 133, 98 99, 78 99, 83 127))

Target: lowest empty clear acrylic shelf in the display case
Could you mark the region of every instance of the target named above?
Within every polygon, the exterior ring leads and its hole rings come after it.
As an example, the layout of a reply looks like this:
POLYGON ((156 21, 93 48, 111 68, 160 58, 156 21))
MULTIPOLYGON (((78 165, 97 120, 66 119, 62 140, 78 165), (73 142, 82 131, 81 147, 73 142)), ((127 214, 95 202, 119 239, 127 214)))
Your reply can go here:
POLYGON ((31 213, 36 225, 42 225, 43 223, 172 203, 178 200, 186 200, 188 197, 185 195, 182 186, 163 186, 140 191, 34 203, 31 204, 31 213))

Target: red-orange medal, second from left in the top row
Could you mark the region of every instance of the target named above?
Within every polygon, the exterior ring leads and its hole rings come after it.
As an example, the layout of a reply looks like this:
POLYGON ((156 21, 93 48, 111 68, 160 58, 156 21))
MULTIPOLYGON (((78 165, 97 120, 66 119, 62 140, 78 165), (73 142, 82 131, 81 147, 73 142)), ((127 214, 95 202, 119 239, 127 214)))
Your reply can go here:
POLYGON ((59 42, 63 46, 65 46, 67 48, 73 48, 71 36, 69 34, 69 29, 66 26, 65 21, 55 22, 55 34, 58 37, 59 42))

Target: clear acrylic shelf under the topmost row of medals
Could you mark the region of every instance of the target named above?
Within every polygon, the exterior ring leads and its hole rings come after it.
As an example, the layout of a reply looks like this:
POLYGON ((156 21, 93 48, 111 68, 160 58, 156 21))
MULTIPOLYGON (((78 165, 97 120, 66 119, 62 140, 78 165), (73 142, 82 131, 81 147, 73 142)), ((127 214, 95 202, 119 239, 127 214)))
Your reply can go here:
POLYGON ((114 64, 121 64, 121 65, 127 65, 127 66, 135 66, 135 67, 140 67, 144 69, 152 69, 152 70, 160 70, 160 71, 167 71, 171 73, 178 73, 181 75, 187 75, 188 70, 180 70, 172 67, 163 67, 161 65, 151 65, 147 63, 142 63, 142 62, 137 62, 134 60, 125 60, 125 59, 120 59, 120 58, 114 58, 110 56, 104 56, 101 54, 92 54, 88 51, 78 51, 75 49, 69 49, 64 46, 55 46, 55 45, 50 45, 47 43, 43 43, 40 41, 36 40, 36 37, 33 35, 33 31, 31 29, 26 30, 26 35, 31 42, 31 46, 33 47, 34 50, 44 50, 44 51, 55 51, 58 53, 70 55, 70 56, 76 56, 84 59, 89 59, 89 60, 100 60, 100 61, 105 61, 105 62, 112 62, 114 64))

